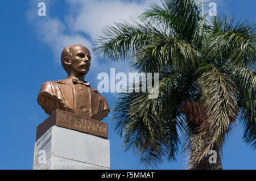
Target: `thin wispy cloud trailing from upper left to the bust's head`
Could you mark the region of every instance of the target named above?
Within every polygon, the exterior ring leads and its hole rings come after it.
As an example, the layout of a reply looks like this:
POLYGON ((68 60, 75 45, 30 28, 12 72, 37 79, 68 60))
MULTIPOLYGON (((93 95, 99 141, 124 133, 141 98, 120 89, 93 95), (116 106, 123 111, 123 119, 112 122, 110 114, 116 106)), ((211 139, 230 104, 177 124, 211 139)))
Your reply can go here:
MULTIPOLYGON (((65 34, 64 30, 67 29, 65 22, 61 22, 59 18, 52 18, 48 14, 44 17, 38 16, 38 4, 39 1, 31 1, 30 9, 26 12, 28 23, 35 27, 36 36, 42 43, 47 44, 53 52, 53 58, 56 62, 60 62, 61 51, 67 47, 67 45, 84 44, 89 49, 92 49, 92 43, 84 36, 77 32, 71 32, 65 34)), ((45 1, 47 7, 53 2, 45 1)))

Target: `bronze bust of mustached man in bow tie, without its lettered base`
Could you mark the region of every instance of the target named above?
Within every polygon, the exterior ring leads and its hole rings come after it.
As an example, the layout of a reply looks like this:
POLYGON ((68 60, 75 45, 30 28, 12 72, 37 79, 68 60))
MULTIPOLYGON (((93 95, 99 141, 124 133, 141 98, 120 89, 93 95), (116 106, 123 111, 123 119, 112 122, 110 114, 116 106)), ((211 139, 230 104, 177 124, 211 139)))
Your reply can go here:
POLYGON ((102 120, 109 113, 105 96, 84 81, 90 68, 90 52, 81 44, 68 46, 61 53, 61 65, 68 77, 47 81, 41 86, 38 104, 51 115, 56 109, 102 120))

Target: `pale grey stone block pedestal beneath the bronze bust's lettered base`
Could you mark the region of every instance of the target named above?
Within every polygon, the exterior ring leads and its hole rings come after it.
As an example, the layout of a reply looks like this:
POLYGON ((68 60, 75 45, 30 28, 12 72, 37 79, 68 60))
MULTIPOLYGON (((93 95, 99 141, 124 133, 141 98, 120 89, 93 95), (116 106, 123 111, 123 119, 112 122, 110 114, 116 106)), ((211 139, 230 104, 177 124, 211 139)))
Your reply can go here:
POLYGON ((109 140, 53 125, 35 143, 33 169, 110 169, 109 140))

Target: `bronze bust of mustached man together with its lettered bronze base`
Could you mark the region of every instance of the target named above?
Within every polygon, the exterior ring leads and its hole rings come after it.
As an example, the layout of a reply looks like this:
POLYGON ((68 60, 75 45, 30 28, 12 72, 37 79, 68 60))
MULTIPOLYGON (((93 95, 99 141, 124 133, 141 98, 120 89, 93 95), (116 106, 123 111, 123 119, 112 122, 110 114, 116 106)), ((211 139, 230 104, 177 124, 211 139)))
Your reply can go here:
POLYGON ((108 124, 100 122, 109 113, 105 96, 85 81, 90 68, 89 50, 81 44, 61 53, 61 65, 68 77, 41 86, 38 104, 50 115, 36 131, 36 140, 53 125, 108 138, 108 124))

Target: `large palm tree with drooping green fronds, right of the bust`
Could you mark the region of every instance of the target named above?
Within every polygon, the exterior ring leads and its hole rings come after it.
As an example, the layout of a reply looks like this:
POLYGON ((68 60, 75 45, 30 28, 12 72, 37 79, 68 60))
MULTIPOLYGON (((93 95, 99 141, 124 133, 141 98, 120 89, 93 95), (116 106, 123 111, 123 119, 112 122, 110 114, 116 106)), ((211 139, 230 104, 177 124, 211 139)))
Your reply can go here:
POLYGON ((181 135, 188 169, 222 169, 222 145, 238 121, 256 148, 255 24, 226 16, 207 23, 194 0, 161 2, 104 28, 96 41, 105 59, 159 73, 157 99, 149 92, 120 95, 114 129, 147 166, 175 161, 181 135), (209 162, 210 150, 217 163, 209 162))

